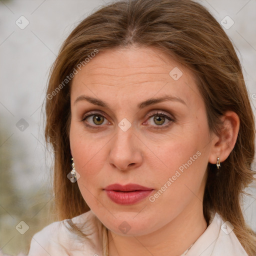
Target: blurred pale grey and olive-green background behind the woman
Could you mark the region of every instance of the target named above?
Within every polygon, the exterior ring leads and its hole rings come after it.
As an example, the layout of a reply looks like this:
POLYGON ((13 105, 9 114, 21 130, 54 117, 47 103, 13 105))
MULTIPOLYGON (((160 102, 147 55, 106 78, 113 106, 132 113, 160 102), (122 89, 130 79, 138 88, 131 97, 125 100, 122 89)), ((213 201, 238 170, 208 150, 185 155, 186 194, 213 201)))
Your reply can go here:
MULTIPOLYGON (((4 253, 27 253, 31 236, 53 221, 52 155, 43 137, 49 68, 75 25, 108 2, 0 0, 0 249, 4 253)), ((199 2, 235 45, 255 114, 256 1, 199 2)), ((247 192, 251 195, 244 197, 243 212, 256 231, 255 184, 247 192)))

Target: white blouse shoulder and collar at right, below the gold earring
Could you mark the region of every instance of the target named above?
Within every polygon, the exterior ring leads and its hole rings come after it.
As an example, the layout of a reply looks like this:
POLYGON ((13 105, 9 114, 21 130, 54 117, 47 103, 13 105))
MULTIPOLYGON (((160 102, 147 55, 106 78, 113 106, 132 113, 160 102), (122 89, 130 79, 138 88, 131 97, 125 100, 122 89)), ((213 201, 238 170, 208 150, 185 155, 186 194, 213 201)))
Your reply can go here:
POLYGON ((186 256, 197 254, 201 256, 248 256, 233 232, 233 225, 224 221, 217 212, 212 213, 210 224, 194 242, 186 256))

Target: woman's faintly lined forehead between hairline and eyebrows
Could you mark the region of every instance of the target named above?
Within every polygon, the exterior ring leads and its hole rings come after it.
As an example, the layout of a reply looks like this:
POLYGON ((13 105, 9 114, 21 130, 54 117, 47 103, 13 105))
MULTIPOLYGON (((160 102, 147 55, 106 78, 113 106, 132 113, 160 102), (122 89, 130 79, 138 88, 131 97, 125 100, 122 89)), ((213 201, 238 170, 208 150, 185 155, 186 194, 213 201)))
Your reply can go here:
POLYGON ((194 74, 154 47, 127 47, 97 53, 74 76, 71 102, 79 95, 105 101, 141 101, 172 94, 189 105, 200 100, 194 74))

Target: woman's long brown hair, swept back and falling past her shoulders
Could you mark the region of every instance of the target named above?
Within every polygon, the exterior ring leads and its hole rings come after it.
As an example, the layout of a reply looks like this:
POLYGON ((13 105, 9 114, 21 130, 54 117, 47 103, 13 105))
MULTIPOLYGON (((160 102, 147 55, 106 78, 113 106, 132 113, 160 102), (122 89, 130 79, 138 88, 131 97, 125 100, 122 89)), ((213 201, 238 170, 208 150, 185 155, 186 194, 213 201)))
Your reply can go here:
POLYGON ((256 236, 245 224, 239 203, 244 187, 253 180, 254 174, 251 164, 255 124, 248 92, 228 36, 203 6, 191 0, 112 3, 82 20, 62 44, 50 72, 45 127, 46 141, 53 146, 55 155, 54 194, 59 219, 89 210, 77 182, 71 183, 66 177, 71 158, 71 80, 65 79, 95 49, 100 52, 132 44, 157 47, 174 55, 193 71, 205 102, 211 131, 220 131, 219 117, 225 111, 232 110, 239 116, 237 141, 222 162, 220 174, 216 175, 215 166, 208 164, 203 214, 208 222, 210 211, 217 211, 234 226, 233 231, 247 253, 255 255, 256 236))

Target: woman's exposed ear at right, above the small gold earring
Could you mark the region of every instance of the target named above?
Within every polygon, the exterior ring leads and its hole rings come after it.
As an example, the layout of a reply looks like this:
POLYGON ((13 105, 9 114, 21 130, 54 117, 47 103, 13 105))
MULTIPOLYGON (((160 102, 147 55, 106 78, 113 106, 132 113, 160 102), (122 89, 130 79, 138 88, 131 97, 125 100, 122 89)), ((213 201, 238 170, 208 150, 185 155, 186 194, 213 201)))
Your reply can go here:
POLYGON ((219 157, 220 162, 223 162, 228 157, 234 148, 240 125, 239 117, 233 111, 226 111, 220 119, 223 125, 221 126, 220 134, 215 134, 212 139, 212 147, 209 154, 209 162, 213 164, 217 162, 217 157, 219 157))

